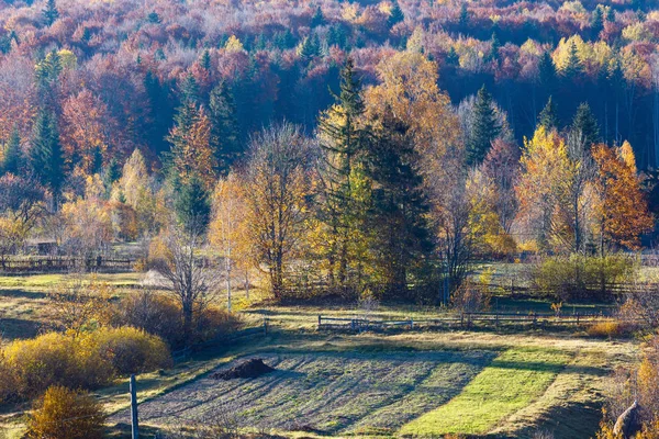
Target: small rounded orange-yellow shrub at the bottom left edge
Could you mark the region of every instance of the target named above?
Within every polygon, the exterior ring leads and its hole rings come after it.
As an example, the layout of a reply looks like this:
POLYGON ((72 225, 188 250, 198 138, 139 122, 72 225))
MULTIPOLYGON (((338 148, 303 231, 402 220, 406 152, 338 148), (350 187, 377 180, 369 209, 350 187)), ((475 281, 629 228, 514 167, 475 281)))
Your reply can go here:
POLYGON ((97 439, 103 437, 105 415, 90 395, 51 386, 37 399, 27 424, 30 439, 97 439))

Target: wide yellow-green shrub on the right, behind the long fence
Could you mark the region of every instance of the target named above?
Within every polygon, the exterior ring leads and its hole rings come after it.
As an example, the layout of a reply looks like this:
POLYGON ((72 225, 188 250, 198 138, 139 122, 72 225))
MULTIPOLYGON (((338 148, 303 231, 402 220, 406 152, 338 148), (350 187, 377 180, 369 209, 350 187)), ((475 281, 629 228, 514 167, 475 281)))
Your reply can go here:
POLYGON ((630 281, 635 268, 635 261, 623 255, 551 257, 532 270, 532 284, 536 291, 565 302, 605 300, 611 299, 613 286, 630 281))

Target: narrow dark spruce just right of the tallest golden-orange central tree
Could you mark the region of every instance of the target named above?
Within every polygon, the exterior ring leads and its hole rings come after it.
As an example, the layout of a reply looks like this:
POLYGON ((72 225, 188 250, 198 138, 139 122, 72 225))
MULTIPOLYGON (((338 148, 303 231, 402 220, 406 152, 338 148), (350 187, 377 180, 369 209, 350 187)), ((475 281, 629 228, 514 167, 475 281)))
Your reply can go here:
POLYGON ((501 125, 496 120, 492 95, 483 86, 473 103, 473 126, 467 143, 467 164, 480 165, 488 155, 492 140, 500 133, 501 125))

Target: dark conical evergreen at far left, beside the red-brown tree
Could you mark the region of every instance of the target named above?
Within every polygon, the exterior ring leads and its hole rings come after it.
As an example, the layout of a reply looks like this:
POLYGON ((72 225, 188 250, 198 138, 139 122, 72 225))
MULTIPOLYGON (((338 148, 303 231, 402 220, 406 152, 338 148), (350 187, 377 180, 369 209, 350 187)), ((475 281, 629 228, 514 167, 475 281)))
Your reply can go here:
POLYGON ((64 159, 57 117, 47 110, 41 110, 34 122, 29 160, 34 175, 53 194, 56 207, 64 181, 64 159))

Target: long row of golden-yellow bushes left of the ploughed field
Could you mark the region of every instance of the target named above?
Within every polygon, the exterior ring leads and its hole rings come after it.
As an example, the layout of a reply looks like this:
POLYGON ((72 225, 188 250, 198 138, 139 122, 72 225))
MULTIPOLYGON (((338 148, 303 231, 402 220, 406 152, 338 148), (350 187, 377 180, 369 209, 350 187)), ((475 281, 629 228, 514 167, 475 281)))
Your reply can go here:
POLYGON ((0 352, 3 401, 30 398, 52 385, 98 389, 115 376, 167 367, 158 337, 134 328, 100 328, 80 337, 48 333, 19 340, 0 352))

